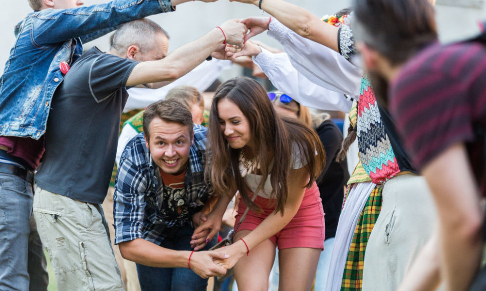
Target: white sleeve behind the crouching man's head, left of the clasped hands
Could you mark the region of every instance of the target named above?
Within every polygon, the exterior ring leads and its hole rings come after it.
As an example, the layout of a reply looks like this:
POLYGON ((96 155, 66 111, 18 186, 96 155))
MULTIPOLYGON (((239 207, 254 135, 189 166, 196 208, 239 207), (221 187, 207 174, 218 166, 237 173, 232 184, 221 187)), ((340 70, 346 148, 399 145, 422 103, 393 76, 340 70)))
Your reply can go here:
POLYGON ((164 99, 167 92, 175 86, 189 85, 195 87, 199 92, 203 92, 219 77, 221 71, 231 68, 231 64, 229 60, 212 59, 202 62, 189 73, 163 87, 157 89, 130 88, 123 112, 146 108, 153 102, 164 99))

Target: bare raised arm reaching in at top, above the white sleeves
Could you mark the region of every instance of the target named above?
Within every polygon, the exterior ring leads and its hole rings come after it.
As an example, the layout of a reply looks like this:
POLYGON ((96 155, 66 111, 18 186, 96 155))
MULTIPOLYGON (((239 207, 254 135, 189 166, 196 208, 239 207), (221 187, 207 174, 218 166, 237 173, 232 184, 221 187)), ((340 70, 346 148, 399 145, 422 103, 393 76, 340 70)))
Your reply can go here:
POLYGON ((338 30, 335 26, 322 22, 309 11, 282 0, 229 0, 259 6, 261 9, 278 19, 286 27, 302 37, 320 43, 332 50, 338 51, 338 30))

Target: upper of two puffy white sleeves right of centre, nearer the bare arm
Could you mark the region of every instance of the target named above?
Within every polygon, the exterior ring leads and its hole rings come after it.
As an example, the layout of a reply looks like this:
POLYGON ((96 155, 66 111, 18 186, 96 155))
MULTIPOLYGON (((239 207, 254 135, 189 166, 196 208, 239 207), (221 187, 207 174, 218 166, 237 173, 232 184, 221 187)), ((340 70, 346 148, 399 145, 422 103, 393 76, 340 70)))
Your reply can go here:
POLYGON ((301 37, 276 19, 268 35, 282 44, 292 65, 313 83, 352 97, 359 95, 363 70, 338 52, 301 37))

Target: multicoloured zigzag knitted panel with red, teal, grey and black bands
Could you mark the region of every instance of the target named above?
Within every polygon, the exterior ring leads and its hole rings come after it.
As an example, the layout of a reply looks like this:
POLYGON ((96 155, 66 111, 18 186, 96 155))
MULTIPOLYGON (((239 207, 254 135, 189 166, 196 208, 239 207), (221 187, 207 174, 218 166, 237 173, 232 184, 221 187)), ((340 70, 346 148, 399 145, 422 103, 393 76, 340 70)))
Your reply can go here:
POLYGON ((383 184, 400 173, 390 138, 381 119, 375 93, 368 78, 361 80, 358 102, 357 135, 359 158, 375 184, 383 184))

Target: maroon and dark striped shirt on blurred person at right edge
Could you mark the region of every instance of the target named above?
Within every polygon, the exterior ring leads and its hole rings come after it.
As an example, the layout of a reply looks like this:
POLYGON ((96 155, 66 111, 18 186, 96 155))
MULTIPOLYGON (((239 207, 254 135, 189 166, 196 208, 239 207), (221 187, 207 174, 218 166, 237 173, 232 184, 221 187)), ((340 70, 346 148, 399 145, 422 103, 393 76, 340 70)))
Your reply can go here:
POLYGON ((433 44, 406 63, 390 86, 390 111, 418 168, 463 142, 477 181, 484 181, 486 47, 433 44))

